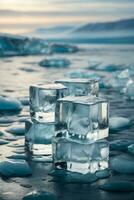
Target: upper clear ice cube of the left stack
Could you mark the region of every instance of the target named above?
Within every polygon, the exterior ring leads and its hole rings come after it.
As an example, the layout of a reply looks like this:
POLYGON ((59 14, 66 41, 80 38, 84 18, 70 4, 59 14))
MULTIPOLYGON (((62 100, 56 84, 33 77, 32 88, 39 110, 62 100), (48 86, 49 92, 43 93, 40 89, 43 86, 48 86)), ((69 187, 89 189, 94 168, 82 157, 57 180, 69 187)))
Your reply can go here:
POLYGON ((30 114, 32 119, 44 122, 55 120, 55 104, 57 99, 68 94, 62 84, 45 84, 30 86, 30 114))

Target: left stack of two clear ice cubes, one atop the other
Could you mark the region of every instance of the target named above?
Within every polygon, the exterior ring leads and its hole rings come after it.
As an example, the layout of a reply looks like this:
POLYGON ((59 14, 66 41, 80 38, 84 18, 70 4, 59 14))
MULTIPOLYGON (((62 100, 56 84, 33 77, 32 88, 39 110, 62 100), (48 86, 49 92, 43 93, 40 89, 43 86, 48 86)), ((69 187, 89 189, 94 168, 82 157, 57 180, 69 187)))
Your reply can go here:
POLYGON ((59 98, 68 95, 62 84, 49 83, 30 86, 31 120, 25 124, 25 145, 33 156, 52 155, 54 135, 55 105, 59 98))

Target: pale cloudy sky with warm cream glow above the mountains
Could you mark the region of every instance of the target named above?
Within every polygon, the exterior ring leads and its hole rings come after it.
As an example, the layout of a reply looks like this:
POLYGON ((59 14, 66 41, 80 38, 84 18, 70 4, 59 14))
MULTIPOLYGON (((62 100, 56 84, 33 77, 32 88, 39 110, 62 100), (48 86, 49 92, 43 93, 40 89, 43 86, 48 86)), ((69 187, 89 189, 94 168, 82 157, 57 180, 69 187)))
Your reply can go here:
POLYGON ((134 0, 0 0, 0 32, 134 17, 134 0))

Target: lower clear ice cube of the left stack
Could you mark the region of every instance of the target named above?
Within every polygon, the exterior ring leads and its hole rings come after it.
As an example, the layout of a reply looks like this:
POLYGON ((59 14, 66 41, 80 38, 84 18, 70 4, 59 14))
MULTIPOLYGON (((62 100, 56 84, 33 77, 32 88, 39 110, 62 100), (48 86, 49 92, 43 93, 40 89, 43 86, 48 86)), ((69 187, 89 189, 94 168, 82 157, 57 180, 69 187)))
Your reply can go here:
POLYGON ((26 121, 25 145, 32 155, 51 155, 54 123, 43 123, 37 120, 26 121))

